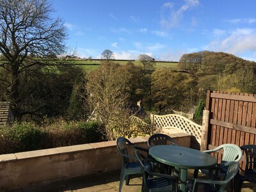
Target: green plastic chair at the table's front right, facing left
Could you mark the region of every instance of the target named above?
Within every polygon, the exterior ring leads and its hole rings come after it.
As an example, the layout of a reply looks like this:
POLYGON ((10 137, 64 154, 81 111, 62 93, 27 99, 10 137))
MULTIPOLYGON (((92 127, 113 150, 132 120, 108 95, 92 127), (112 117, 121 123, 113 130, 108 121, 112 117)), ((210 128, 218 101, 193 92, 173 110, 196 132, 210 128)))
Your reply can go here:
POLYGON ((237 172, 239 172, 239 163, 237 161, 229 161, 221 164, 221 168, 227 170, 223 180, 206 180, 206 179, 194 179, 188 183, 188 191, 221 191, 224 192, 225 188, 237 172))

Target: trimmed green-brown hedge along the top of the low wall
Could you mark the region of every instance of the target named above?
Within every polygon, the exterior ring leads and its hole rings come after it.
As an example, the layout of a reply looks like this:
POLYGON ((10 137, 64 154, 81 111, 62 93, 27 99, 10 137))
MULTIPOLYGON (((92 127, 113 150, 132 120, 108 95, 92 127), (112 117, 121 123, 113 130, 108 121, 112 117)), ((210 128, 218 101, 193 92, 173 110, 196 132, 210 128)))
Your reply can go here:
POLYGON ((35 124, 14 124, 0 127, 0 154, 44 148, 64 147, 102 141, 98 122, 65 122, 38 127, 35 124))

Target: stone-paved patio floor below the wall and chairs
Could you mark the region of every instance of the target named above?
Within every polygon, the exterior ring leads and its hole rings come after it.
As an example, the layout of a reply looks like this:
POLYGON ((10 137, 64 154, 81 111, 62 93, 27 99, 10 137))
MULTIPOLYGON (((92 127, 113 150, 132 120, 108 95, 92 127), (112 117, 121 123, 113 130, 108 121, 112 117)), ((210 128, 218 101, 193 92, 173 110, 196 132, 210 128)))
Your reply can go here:
MULTIPOLYGON (((193 170, 189 170, 188 179, 193 177, 193 170)), ((198 177, 204 177, 199 174, 198 177)), ((15 189, 8 192, 32 192, 32 191, 83 191, 83 192, 112 192, 118 191, 120 179, 120 170, 112 172, 104 172, 83 177, 75 177, 72 179, 63 179, 55 182, 45 182, 42 184, 35 184, 26 186, 24 188, 15 189)), ((122 191, 141 191, 142 177, 132 177, 129 186, 123 186, 122 191)), ((228 188, 227 188, 227 191, 228 188)), ((255 184, 244 182, 243 192, 256 191, 255 184)))

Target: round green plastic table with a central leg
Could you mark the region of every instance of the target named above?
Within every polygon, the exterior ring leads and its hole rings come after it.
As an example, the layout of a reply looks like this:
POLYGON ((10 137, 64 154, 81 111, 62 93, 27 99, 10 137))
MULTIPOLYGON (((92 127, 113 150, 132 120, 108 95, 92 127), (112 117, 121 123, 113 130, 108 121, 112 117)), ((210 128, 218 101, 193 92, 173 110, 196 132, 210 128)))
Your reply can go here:
POLYGON ((180 191, 182 192, 186 191, 188 169, 210 169, 217 164, 216 159, 210 154, 177 145, 157 145, 151 147, 148 154, 161 163, 175 166, 176 172, 180 168, 180 191))

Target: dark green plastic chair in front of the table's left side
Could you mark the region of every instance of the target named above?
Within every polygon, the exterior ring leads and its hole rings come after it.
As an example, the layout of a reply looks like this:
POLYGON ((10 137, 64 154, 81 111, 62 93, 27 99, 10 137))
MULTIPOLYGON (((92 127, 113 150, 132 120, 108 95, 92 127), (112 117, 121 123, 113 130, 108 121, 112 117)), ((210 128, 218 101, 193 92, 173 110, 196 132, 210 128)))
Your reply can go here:
POLYGON ((141 168, 143 170, 143 184, 141 191, 153 192, 153 191, 177 191, 178 182, 177 178, 163 173, 152 172, 151 167, 145 166, 148 163, 156 162, 154 159, 148 159, 140 154, 138 150, 135 150, 136 157, 140 161, 141 168))

